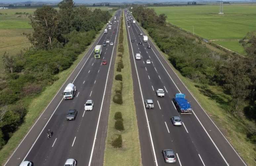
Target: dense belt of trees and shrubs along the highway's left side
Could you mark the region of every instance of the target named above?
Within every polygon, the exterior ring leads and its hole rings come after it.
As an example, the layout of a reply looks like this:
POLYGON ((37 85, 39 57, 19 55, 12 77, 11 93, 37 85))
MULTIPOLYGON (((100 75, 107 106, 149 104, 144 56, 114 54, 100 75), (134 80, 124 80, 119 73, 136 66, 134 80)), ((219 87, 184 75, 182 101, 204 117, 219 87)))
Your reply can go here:
MULTIPOLYGON (((32 34, 24 34, 33 45, 16 56, 4 53, 5 75, 0 81, 0 149, 24 122, 26 108, 46 86, 58 79, 90 45, 111 18, 107 11, 75 7, 73 0, 38 8, 30 15, 32 34)), ((36 108, 35 108, 36 109, 36 108)))

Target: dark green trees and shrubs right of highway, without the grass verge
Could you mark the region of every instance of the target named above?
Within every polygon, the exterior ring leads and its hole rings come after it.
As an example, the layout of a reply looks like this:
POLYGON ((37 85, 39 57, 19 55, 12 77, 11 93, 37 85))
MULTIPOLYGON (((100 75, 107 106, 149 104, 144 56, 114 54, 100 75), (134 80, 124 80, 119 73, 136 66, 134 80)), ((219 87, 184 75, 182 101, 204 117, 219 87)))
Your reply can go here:
MULTIPOLYGON (((220 54, 196 41, 190 34, 166 23, 166 15, 156 15, 153 9, 133 6, 135 19, 147 29, 157 46, 169 56, 169 61, 186 76, 202 85, 202 93, 219 103, 208 85, 221 86, 232 97, 226 103, 227 112, 236 117, 244 115, 256 120, 256 32, 242 40, 246 57, 220 54)), ((239 119, 239 118, 238 118, 239 119)), ((255 128, 248 127, 248 138, 256 143, 255 128)))

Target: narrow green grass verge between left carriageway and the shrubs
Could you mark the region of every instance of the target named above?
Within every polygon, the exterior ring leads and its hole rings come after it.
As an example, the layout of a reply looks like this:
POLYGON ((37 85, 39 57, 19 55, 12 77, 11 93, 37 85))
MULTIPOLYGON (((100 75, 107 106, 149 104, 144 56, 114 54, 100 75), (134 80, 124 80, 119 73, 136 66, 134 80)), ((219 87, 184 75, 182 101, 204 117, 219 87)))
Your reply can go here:
POLYGON ((101 35, 101 32, 103 31, 103 29, 105 29, 105 25, 96 35, 95 39, 91 42, 91 44, 85 49, 85 51, 77 56, 77 59, 73 62, 70 68, 56 75, 57 77, 59 77, 59 79, 55 81, 53 85, 46 87, 45 90, 37 97, 25 99, 26 101, 25 105, 28 105, 25 121, 19 127, 19 129, 13 134, 13 136, 9 139, 8 143, 3 147, 3 149, 1 149, 0 151, 1 165, 5 164, 8 157, 19 145, 19 143, 21 142, 23 137, 26 135, 26 133, 29 131, 29 129, 32 127, 32 125, 35 123, 39 115, 47 107, 47 105, 50 103, 52 98, 56 95, 58 90, 66 81, 67 77, 72 73, 72 71, 75 69, 77 64, 81 61, 81 59, 84 57, 85 53, 90 49, 94 41, 96 41, 98 37, 101 35))

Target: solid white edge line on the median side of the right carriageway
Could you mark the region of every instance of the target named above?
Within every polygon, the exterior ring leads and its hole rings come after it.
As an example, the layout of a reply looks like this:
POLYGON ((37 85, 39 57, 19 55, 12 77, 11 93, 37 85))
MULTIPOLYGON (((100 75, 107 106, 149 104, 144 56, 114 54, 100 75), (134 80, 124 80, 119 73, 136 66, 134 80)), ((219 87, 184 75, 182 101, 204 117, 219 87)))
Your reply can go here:
MULTIPOLYGON (((128 26, 128 25, 127 25, 127 22, 126 22, 126 26, 128 26)), ((130 44, 131 44, 131 48, 132 48, 132 42, 131 42, 131 37, 130 37, 129 29, 128 29, 128 34, 129 34, 130 44)), ((138 44, 137 44, 137 45, 138 45, 138 44)), ((149 119, 148 119, 147 111, 146 111, 146 108, 145 108, 145 105, 144 105, 144 98, 143 98, 143 95, 142 95, 140 78, 139 78, 137 66, 136 66, 136 63, 135 63, 133 48, 132 48, 132 55, 133 55, 133 61, 134 61, 134 65, 135 65, 135 69, 136 69, 138 81, 139 81, 139 87, 140 87, 140 92, 141 92, 141 98, 142 98, 142 103, 143 103, 143 106, 144 106, 144 112, 145 112, 146 119, 147 119, 147 124, 148 124, 148 129, 149 129, 149 137, 150 137, 150 141, 151 141, 151 145, 152 145, 152 150, 153 150, 153 154, 154 154, 154 158, 155 158, 155 164, 156 164, 156 166, 158 166, 157 159, 156 159, 156 155, 155 155, 155 148, 154 148, 154 144, 153 144, 153 139, 152 139, 152 135, 151 135, 151 131, 150 131, 150 126, 149 126, 149 119)))

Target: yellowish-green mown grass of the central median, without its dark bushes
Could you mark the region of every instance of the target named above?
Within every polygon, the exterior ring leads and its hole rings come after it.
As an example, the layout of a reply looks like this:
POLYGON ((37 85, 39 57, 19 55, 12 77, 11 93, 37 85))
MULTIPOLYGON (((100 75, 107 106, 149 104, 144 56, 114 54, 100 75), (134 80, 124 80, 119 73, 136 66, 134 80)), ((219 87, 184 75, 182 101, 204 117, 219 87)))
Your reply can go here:
MULTIPOLYGON (((124 19, 124 14, 123 14, 124 19)), ((124 19, 125 20, 125 19, 124 19)), ((129 56, 128 41, 126 36, 125 24, 123 24, 123 47, 124 53, 123 56, 116 56, 115 60, 115 72, 114 75, 121 73, 122 74, 122 98, 123 104, 116 104, 112 101, 112 98, 115 94, 116 88, 120 86, 120 81, 113 78, 112 86, 112 96, 110 101, 110 110, 108 118, 108 128, 107 128, 107 139, 106 139, 106 149, 104 154, 104 165, 105 166, 120 166, 120 165, 129 165, 129 166, 140 166, 141 163, 141 151, 140 151, 140 142, 139 142, 139 132, 136 118, 136 110, 134 105, 133 98, 133 82, 131 74, 131 64, 129 56), (117 72, 117 63, 120 59, 123 59, 124 68, 121 69, 121 72, 117 72), (124 130, 118 131, 115 129, 115 112, 122 113, 122 119, 124 124, 124 130), (122 135, 122 148, 113 148, 111 142, 116 138, 116 135, 122 135)), ((120 31, 119 31, 120 32, 120 31)), ((116 53, 118 54, 118 52, 116 53)), ((118 88, 117 88, 118 89, 118 88)))

